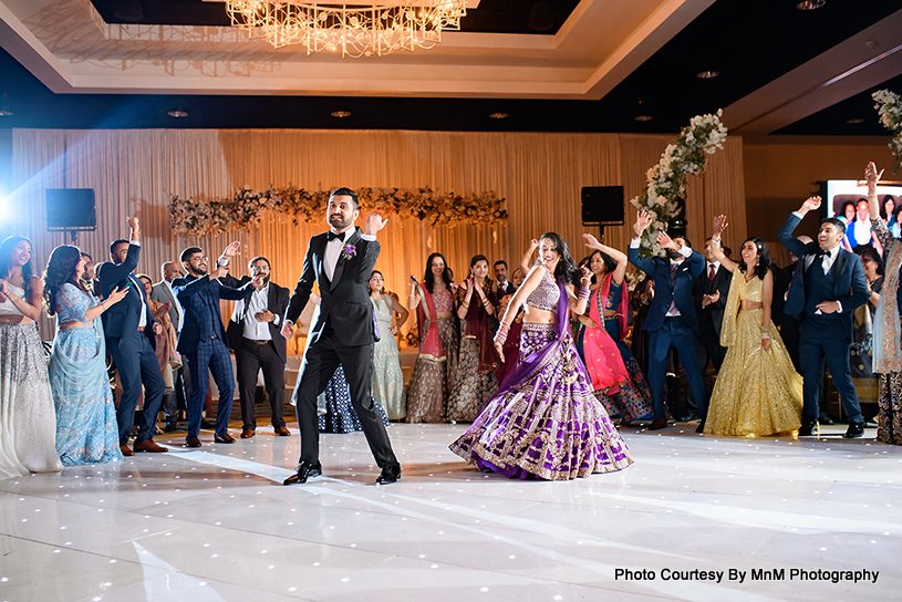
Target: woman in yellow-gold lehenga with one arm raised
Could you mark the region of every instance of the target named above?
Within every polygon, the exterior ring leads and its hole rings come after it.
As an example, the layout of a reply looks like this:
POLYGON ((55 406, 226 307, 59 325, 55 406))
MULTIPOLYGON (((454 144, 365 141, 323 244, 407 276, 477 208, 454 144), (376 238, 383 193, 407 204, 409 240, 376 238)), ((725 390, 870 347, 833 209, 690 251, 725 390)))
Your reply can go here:
POLYGON ((714 256, 734 274, 720 330, 727 354, 704 432, 740 437, 788 434, 801 424, 802 380, 770 320, 770 256, 763 240, 749 238, 743 242, 742 260, 730 261, 720 251, 724 228, 726 217, 715 218, 714 256))

